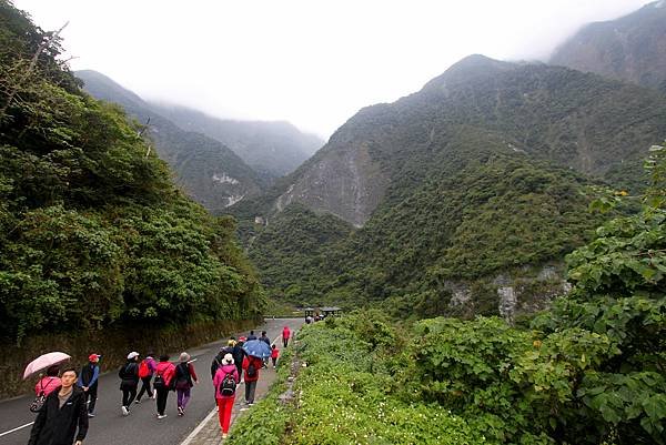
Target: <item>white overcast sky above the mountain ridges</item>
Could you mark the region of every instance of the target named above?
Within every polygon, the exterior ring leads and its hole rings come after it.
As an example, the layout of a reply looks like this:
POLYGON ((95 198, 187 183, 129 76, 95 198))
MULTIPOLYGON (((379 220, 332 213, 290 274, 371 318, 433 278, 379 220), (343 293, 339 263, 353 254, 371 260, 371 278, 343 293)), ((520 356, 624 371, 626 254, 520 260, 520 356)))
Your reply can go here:
POLYGON ((589 21, 646 0, 14 0, 60 28, 74 70, 222 118, 327 138, 471 53, 546 60, 589 21))

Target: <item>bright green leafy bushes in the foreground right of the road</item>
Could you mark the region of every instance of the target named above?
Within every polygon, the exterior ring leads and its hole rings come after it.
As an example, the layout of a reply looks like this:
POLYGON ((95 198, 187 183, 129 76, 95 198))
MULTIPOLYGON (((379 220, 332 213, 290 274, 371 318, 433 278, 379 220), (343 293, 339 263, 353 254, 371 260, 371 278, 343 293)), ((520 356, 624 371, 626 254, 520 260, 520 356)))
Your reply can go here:
POLYGON ((272 443, 666 444, 666 145, 650 153, 640 212, 567 255, 572 292, 528 326, 379 311, 305 326, 272 443))

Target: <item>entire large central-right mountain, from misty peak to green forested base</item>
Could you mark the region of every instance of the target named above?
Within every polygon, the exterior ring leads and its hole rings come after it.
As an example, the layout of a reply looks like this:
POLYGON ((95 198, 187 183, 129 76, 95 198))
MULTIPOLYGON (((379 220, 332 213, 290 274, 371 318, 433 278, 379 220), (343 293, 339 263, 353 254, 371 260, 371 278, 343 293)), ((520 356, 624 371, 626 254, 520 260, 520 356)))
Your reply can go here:
POLYGON ((649 89, 472 55, 361 110, 230 211, 275 295, 422 316, 529 312, 563 292, 563 256, 601 222, 588 188, 639 189, 664 134, 666 97, 649 89))

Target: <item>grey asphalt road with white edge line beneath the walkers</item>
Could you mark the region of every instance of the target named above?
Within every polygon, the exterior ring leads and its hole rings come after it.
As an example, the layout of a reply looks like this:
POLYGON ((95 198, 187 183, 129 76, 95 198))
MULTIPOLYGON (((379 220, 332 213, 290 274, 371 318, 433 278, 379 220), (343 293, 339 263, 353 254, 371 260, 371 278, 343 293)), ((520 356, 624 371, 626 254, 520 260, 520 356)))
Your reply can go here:
MULTIPOLYGON (((254 331, 268 331, 271 340, 282 335, 282 327, 286 324, 292 332, 303 325, 303 318, 266 320, 265 324, 254 331)), ((236 333, 248 335, 248 333, 236 333)), ((210 378, 210 366, 213 357, 226 338, 198 348, 188 351, 196 358, 194 367, 200 378, 199 385, 192 388, 192 398, 183 417, 175 411, 175 393, 169 394, 167 402, 167 418, 155 418, 155 403, 145 398, 141 404, 132 404, 129 416, 123 417, 120 411, 122 393, 120 381, 115 372, 100 377, 95 417, 90 418, 90 428, 84 444, 94 445, 178 445, 199 425, 201 421, 214 408, 214 390, 210 378)), ((282 348, 282 342, 279 343, 282 348)), ((178 358, 178 354, 172 360, 178 358)), ((141 385, 139 386, 141 387, 141 385)), ((0 402, 0 445, 26 445, 30 437, 31 426, 26 426, 16 432, 4 434, 11 429, 34 421, 36 414, 28 409, 33 395, 0 402)))

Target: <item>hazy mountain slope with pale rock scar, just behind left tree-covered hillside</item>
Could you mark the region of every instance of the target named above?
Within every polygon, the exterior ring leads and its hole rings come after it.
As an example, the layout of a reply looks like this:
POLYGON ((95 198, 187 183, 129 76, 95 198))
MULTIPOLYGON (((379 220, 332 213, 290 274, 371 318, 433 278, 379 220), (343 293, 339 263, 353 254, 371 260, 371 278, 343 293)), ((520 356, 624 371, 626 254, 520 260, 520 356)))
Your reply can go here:
POLYGON ((84 70, 75 75, 94 98, 119 104, 147 124, 147 135, 154 141, 160 158, 175 171, 179 185, 213 213, 261 192, 261 178, 220 141, 182 130, 139 95, 99 72, 84 70))

